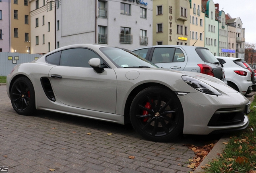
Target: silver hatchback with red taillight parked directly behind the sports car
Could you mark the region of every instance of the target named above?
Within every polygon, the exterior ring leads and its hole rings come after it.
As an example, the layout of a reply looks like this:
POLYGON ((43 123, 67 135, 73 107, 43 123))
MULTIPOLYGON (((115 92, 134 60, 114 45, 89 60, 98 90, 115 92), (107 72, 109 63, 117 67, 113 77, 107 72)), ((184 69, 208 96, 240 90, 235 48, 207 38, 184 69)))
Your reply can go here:
POLYGON ((207 48, 198 46, 159 45, 132 50, 159 67, 200 72, 224 81, 222 64, 207 48))

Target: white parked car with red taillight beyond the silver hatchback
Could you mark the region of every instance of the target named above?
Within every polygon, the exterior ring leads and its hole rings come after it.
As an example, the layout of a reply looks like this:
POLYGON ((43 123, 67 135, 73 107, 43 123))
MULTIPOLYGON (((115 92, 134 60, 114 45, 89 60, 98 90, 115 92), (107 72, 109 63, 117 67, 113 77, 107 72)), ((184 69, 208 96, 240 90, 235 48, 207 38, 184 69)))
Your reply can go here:
POLYGON ((239 58, 216 56, 223 64, 225 70, 225 78, 227 85, 242 95, 252 92, 251 72, 239 65, 236 62, 241 62, 239 58))

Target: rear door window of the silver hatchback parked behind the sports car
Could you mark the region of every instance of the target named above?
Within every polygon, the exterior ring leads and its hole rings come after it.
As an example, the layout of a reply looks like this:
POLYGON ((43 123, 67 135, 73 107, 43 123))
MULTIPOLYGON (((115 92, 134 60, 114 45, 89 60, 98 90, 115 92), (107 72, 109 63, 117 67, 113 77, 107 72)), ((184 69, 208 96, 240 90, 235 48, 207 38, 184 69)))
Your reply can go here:
POLYGON ((172 62, 175 48, 155 48, 151 62, 163 63, 172 62))

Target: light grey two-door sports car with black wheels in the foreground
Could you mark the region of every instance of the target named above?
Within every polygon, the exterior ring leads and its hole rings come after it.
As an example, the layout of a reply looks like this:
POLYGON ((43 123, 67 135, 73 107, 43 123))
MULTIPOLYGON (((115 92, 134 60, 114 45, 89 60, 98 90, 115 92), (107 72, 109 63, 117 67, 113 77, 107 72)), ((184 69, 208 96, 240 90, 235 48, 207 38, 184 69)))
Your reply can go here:
MULTIPOLYGON (((248 126, 250 101, 221 80, 158 68, 129 50, 92 44, 58 48, 7 76, 21 115, 53 111, 131 123, 143 137, 168 141, 248 126)), ((86 119, 85 119, 86 121, 86 119)))

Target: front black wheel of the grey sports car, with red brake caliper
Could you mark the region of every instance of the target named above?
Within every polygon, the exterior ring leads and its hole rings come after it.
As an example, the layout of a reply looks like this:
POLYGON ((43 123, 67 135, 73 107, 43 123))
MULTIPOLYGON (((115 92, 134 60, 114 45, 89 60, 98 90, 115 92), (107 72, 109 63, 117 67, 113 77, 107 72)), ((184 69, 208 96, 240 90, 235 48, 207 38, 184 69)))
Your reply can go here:
POLYGON ((142 137, 171 141, 183 131, 184 115, 177 95, 163 87, 146 88, 132 101, 130 120, 142 137))

